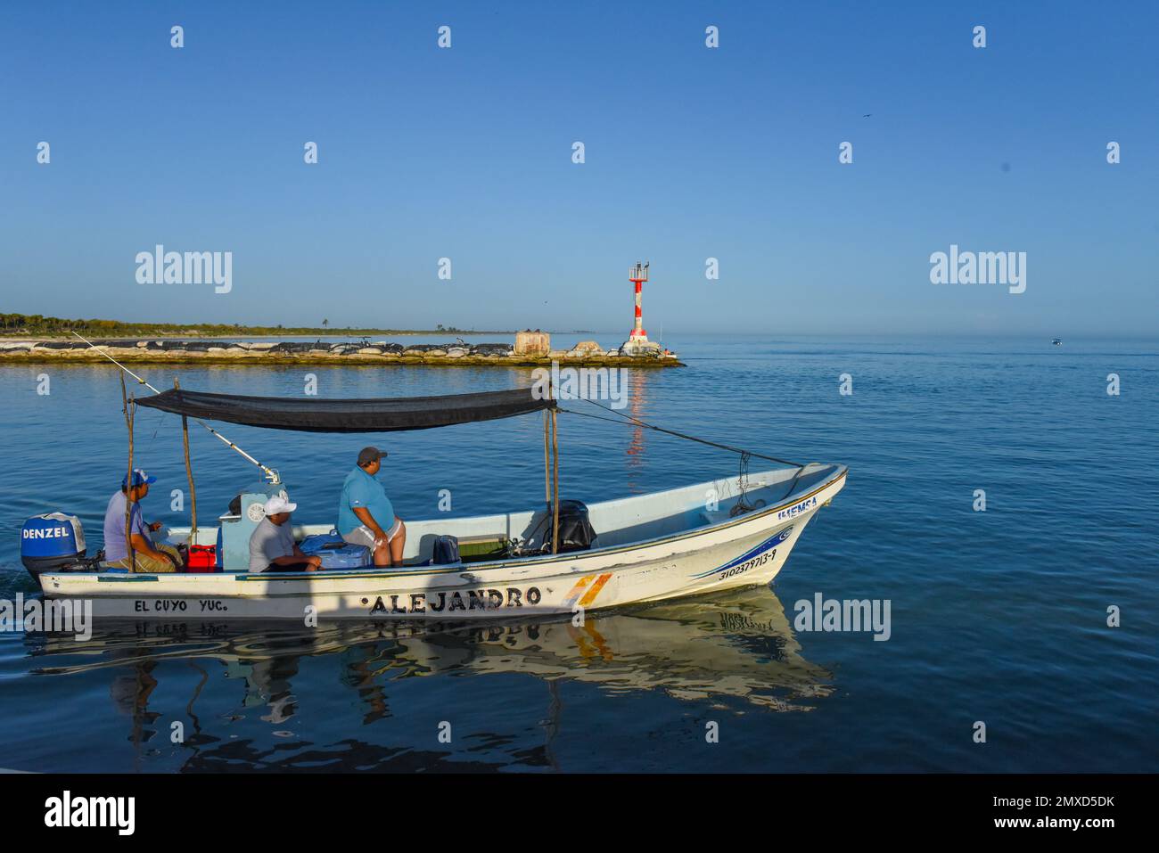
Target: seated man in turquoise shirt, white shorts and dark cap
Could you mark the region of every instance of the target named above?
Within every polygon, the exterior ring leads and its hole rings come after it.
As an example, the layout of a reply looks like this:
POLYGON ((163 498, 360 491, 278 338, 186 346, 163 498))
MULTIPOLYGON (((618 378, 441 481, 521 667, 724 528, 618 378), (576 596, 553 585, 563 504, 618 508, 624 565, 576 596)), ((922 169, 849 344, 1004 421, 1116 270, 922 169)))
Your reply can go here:
POLYGON ((338 533, 348 542, 369 547, 376 566, 402 566, 407 527, 394 515, 386 489, 374 479, 385 455, 378 447, 363 447, 358 453, 358 467, 342 483, 338 533))

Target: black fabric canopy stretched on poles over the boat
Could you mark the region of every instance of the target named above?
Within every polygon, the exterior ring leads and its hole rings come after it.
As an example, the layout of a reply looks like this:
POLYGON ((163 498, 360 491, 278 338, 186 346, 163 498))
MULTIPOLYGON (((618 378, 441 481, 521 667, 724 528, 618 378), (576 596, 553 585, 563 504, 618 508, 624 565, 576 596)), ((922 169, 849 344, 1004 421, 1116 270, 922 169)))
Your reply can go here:
POLYGON ((380 400, 290 400, 173 388, 156 396, 140 398, 136 402, 151 409, 205 421, 228 421, 248 426, 301 432, 428 430, 555 407, 554 400, 533 396, 532 388, 380 400))

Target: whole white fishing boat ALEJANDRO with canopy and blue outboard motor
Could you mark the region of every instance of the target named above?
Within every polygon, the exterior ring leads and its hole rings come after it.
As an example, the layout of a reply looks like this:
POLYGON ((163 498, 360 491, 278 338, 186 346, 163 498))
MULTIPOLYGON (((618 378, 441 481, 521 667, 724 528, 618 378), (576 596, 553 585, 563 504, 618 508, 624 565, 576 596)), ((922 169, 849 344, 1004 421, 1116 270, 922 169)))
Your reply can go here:
MULTIPOLYGON (((125 400, 129 469, 137 407, 181 415, 184 431, 192 523, 159 531, 154 539, 210 552, 214 562, 197 571, 112 569, 86 559, 83 531, 74 516, 51 512, 29 519, 21 553, 44 596, 89 599, 99 617, 472 619, 576 613, 767 584, 846 477, 844 465, 817 462, 749 473, 751 458, 775 458, 625 416, 642 428, 736 451, 741 468, 735 476, 584 504, 559 497, 557 415, 571 410, 559 406, 557 394, 544 394, 535 387, 425 398, 287 400, 180 387, 159 392, 130 374, 154 395, 125 400), (401 566, 373 566, 367 551, 362 564, 325 568, 323 562, 322 570, 308 573, 249 570, 249 535, 263 518, 264 502, 284 493, 286 486, 276 469, 206 423, 307 432, 392 432, 540 411, 544 504, 500 515, 408 519, 401 566), (214 525, 197 523, 189 420, 204 425, 265 474, 263 482, 241 489, 214 525), (454 547, 439 547, 447 541, 454 547)), ((293 532, 296 540, 323 542, 320 553, 325 554, 328 538, 335 538, 333 527, 331 522, 294 524, 293 532)))

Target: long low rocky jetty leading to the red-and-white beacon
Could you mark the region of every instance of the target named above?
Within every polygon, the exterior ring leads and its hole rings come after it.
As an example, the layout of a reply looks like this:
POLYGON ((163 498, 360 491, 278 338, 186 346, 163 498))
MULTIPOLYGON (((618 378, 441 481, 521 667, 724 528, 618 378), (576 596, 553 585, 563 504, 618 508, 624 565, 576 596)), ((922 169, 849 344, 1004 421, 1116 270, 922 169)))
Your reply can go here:
POLYGON ((605 350, 584 341, 571 350, 517 352, 506 343, 401 344, 388 341, 329 343, 315 341, 177 341, 99 340, 96 349, 81 341, 0 342, 0 364, 108 363, 102 352, 125 364, 304 364, 304 365, 430 365, 430 366, 540 366, 567 362, 571 366, 684 366, 676 353, 630 355, 605 350))

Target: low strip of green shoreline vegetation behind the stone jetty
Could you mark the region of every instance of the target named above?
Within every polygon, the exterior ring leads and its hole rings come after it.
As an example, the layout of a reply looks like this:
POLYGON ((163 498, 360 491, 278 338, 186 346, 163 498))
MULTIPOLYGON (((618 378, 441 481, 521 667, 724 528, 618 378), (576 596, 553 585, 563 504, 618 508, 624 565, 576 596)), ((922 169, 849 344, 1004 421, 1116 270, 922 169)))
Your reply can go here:
POLYGON ((340 337, 365 337, 367 335, 513 335, 515 331, 497 329, 460 329, 455 326, 438 326, 433 329, 379 329, 330 326, 323 319, 321 326, 245 326, 242 323, 161 323, 125 322, 123 320, 68 320, 41 314, 0 314, 0 337, 75 341, 72 333, 85 337, 302 337, 306 335, 334 335, 340 337))

